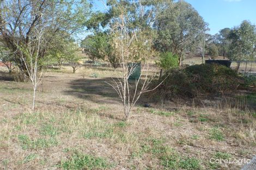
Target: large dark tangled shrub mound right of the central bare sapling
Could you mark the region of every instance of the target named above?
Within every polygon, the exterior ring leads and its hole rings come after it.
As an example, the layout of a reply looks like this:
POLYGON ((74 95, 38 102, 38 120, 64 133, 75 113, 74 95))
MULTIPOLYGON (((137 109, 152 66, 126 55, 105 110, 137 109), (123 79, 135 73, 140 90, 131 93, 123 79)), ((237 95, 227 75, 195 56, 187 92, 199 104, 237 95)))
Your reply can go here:
POLYGON ((164 78, 166 80, 160 89, 167 98, 196 97, 204 93, 233 91, 240 84, 240 78, 235 71, 216 64, 193 65, 180 70, 172 69, 164 74, 162 79, 164 78))

